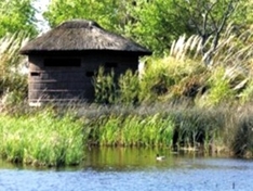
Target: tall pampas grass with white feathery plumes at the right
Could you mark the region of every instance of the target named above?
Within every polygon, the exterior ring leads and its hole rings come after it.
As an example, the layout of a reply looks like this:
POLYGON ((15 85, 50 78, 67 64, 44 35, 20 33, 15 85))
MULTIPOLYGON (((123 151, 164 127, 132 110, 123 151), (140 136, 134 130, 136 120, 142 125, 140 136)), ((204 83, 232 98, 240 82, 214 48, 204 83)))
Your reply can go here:
MULTIPOLYGON (((205 47, 203 47, 207 53, 202 54, 201 38, 198 36, 189 38, 183 36, 173 43, 169 56, 175 58, 179 62, 183 61, 183 65, 187 65, 185 64, 187 60, 201 62, 204 65, 203 61, 212 51, 209 51, 211 41, 212 37, 207 40, 205 47)), ((227 27, 226 31, 221 36, 217 48, 212 52, 209 65, 205 67, 209 76, 205 78, 207 84, 202 81, 202 87, 205 87, 208 91, 202 93, 201 104, 203 104, 203 100, 204 104, 208 105, 219 104, 224 100, 230 102, 238 101, 238 99, 242 102, 250 100, 253 61, 252 42, 251 28, 238 33, 232 25, 227 27)), ((199 97, 197 101, 199 101, 199 97)))

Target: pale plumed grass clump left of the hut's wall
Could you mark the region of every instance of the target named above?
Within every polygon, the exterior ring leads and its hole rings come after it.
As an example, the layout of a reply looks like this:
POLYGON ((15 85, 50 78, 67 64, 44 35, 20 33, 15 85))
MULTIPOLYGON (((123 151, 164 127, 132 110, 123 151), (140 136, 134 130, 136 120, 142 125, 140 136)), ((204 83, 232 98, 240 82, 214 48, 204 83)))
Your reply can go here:
POLYGON ((0 96, 4 104, 15 104, 27 97, 27 76, 22 73, 26 68, 26 59, 18 51, 28 39, 23 33, 0 39, 0 96))

